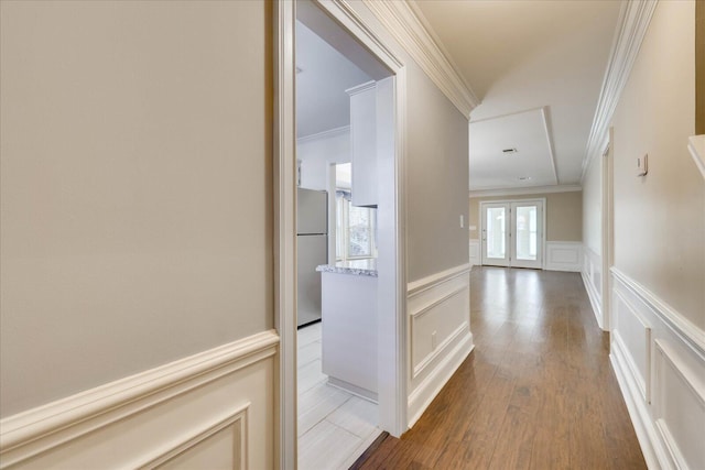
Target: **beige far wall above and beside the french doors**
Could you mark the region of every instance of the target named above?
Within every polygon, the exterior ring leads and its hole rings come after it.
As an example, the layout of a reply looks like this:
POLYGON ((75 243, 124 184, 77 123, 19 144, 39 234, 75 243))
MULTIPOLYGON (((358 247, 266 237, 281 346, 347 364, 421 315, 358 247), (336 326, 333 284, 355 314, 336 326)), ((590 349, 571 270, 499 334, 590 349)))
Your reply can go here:
POLYGON ((470 226, 477 227, 470 231, 471 239, 479 238, 480 201, 546 199, 546 241, 582 241, 583 240, 583 193, 549 193, 519 196, 485 196, 470 197, 470 226))

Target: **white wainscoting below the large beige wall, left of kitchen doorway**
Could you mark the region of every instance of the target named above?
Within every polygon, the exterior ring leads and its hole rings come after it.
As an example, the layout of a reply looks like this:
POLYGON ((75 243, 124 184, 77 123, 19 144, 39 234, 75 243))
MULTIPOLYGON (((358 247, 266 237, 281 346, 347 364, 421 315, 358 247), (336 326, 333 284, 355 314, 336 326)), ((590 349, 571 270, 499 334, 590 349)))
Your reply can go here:
POLYGON ((264 331, 0 422, 0 468, 274 467, 264 331))

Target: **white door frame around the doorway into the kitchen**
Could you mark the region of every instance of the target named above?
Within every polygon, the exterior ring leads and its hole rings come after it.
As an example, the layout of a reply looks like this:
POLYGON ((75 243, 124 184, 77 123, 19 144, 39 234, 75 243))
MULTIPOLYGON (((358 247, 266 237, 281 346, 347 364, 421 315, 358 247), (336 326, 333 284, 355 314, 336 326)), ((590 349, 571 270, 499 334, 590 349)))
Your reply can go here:
MULTIPOLYGON (((391 230, 380 229, 378 267, 379 311, 379 425, 394 436, 408 428, 406 274, 405 274, 405 127, 406 69, 376 28, 347 3, 314 0, 393 75, 393 161, 379 167, 379 177, 393 179, 380 203, 392 203, 391 230), (382 236, 386 232, 386 236, 382 236)), ((296 467, 296 253, 295 253, 295 21, 296 2, 274 2, 274 317, 281 342, 276 384, 276 462, 296 467)), ((389 145, 389 142, 384 144, 389 145)), ((384 187, 386 185, 380 185, 384 187)), ((389 206, 388 206, 389 207, 389 206)))

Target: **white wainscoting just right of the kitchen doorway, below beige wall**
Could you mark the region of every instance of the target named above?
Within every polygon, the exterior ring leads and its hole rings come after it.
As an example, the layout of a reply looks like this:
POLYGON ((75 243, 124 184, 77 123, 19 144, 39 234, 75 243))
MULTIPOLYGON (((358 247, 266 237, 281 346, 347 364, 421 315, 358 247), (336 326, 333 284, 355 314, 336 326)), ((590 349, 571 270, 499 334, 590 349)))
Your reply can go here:
POLYGON ((469 264, 409 284, 409 426, 473 350, 469 264))

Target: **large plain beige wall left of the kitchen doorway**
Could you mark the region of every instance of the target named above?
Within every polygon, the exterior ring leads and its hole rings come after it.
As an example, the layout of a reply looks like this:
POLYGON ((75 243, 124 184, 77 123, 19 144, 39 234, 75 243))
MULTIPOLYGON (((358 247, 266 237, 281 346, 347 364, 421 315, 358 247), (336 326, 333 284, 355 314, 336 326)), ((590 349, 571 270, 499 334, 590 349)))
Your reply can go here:
POLYGON ((264 2, 1 2, 7 416, 273 324, 264 2))

